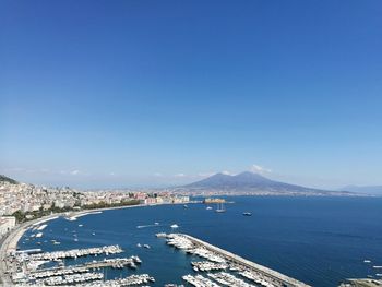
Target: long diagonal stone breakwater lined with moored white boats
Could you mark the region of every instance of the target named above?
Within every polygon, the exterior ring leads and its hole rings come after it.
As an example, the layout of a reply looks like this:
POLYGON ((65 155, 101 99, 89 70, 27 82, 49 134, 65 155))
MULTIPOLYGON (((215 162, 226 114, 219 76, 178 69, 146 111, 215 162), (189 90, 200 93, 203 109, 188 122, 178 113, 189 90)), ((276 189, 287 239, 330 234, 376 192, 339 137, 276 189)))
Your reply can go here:
MULTIPOLYGON (((160 234, 159 238, 164 235, 160 234)), ((309 285, 271 270, 258 263, 240 258, 231 252, 210 244, 198 238, 184 234, 169 234, 166 236, 167 244, 184 250, 207 260, 207 262, 193 262, 194 271, 217 271, 208 273, 208 277, 226 286, 248 286, 243 279, 265 287, 310 287, 309 285), (210 263, 208 263, 210 262, 210 263), (228 273, 229 272, 229 273, 228 273), (238 275, 239 278, 235 275, 238 275), (223 284, 226 283, 226 284, 223 284)), ((195 287, 214 287, 215 283, 202 275, 184 275, 183 279, 195 287), (214 284, 211 284, 211 283, 214 284)), ((253 286, 253 285, 249 285, 253 286)))

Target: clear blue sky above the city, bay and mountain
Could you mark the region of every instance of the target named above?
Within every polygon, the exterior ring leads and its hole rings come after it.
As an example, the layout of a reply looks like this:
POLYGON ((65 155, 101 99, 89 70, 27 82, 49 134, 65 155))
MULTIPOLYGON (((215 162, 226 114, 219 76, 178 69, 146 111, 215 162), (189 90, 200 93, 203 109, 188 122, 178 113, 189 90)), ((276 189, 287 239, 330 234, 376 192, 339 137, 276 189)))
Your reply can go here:
POLYGON ((379 0, 3 0, 0 174, 382 183, 381 15, 379 0))

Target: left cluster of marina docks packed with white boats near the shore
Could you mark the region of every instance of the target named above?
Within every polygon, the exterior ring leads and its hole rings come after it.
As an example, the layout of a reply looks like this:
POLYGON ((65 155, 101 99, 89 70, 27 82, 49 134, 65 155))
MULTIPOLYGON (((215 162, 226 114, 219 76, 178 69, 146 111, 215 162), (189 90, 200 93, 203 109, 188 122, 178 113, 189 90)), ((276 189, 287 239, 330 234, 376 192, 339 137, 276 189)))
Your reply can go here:
MULTIPOLYGON (((76 260, 82 256, 114 255, 123 252, 119 246, 104 246, 98 248, 73 249, 65 251, 41 252, 40 250, 25 250, 12 255, 12 263, 16 272, 12 273, 14 284, 23 285, 83 285, 107 282, 104 273, 107 268, 136 270, 142 260, 138 255, 130 258, 104 258, 103 260, 86 261, 81 264, 65 265, 65 260, 76 260), (52 267, 46 267, 53 264, 52 267)), ((138 282, 155 282, 148 275, 135 275, 124 278, 123 285, 136 285, 138 282)), ((121 279, 121 278, 120 278, 121 279)), ((121 285, 120 285, 121 286, 121 285)))

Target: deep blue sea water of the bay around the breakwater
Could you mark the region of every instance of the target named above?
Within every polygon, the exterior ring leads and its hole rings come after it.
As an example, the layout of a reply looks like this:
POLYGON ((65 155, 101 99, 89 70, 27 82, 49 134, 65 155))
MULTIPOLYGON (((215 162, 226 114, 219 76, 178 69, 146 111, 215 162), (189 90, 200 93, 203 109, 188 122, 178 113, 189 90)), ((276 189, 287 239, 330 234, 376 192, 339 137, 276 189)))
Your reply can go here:
MULTIPOLYGON (((111 210, 75 222, 58 218, 48 223, 39 239, 32 240, 32 231, 27 231, 19 248, 52 251, 119 244, 126 253, 118 256, 139 255, 143 263, 136 271, 104 271, 107 278, 148 273, 156 278, 156 286, 180 284, 182 275, 192 273, 190 262, 195 258, 174 250, 155 237, 156 232, 170 232, 170 225, 178 224, 178 232, 192 235, 312 286, 337 286, 345 278, 375 276, 378 270, 372 265, 382 265, 382 198, 235 196, 228 200, 235 203, 226 205, 226 213, 207 211, 204 204, 189 204, 188 208, 160 205, 111 210), (243 212, 251 212, 252 216, 243 216, 243 212), (79 238, 76 242, 74 234, 79 238), (61 244, 53 246, 52 239, 61 244), (150 244, 151 249, 139 248, 138 243, 150 244)), ((67 264, 93 259, 69 260, 67 264)))

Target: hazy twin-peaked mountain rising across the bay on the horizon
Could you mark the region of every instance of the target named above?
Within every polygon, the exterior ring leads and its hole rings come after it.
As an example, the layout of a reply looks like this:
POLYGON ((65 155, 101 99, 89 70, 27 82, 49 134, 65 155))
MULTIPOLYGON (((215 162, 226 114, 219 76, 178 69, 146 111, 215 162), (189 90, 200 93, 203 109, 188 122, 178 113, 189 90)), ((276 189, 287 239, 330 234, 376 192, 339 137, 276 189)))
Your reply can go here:
POLYGON ((236 176, 216 174, 200 181, 181 187, 188 191, 218 191, 220 193, 256 193, 256 194, 315 194, 334 195, 348 193, 319 190, 271 180, 261 175, 244 171, 236 176))

